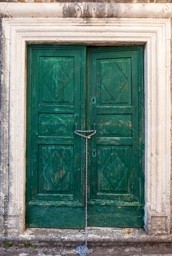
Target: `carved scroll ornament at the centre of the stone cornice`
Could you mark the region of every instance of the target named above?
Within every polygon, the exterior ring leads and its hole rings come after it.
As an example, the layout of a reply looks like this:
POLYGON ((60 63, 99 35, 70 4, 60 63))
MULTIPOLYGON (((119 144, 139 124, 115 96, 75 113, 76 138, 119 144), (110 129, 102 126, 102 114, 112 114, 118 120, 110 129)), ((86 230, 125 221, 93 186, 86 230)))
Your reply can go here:
POLYGON ((75 17, 97 17, 97 5, 95 3, 78 3, 75 10, 75 17))

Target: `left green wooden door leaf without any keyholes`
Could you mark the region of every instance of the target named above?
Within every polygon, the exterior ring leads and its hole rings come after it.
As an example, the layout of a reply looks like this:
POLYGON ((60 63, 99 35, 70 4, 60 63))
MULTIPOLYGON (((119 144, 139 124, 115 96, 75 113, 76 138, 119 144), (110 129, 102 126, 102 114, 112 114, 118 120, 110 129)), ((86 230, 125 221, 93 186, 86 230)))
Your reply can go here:
POLYGON ((26 226, 83 228, 85 46, 28 46, 26 226))

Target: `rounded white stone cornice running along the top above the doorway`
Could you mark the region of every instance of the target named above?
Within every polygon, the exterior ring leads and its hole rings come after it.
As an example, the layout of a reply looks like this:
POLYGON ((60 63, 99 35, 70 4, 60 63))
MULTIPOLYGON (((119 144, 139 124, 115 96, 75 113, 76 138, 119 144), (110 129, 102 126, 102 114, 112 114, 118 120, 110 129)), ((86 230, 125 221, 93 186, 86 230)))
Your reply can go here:
POLYGON ((172 4, 154 3, 0 3, 3 17, 169 18, 172 4))

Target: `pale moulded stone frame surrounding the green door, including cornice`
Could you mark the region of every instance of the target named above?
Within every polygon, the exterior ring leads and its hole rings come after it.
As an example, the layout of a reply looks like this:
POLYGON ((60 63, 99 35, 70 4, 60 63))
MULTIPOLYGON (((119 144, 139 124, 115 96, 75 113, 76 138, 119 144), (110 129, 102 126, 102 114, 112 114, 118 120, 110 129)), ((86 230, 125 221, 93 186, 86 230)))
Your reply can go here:
POLYGON ((27 43, 67 43, 144 44, 145 230, 170 234, 172 4, 0 3, 0 13, 1 206, 8 195, 10 233, 25 228, 27 43))

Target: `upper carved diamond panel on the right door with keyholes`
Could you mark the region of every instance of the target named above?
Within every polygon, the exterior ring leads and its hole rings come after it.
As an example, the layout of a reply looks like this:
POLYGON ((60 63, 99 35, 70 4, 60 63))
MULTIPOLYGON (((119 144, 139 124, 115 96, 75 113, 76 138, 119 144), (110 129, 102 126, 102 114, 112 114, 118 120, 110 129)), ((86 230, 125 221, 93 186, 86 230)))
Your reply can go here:
POLYGON ((100 104, 131 105, 130 59, 105 59, 97 68, 100 104))

